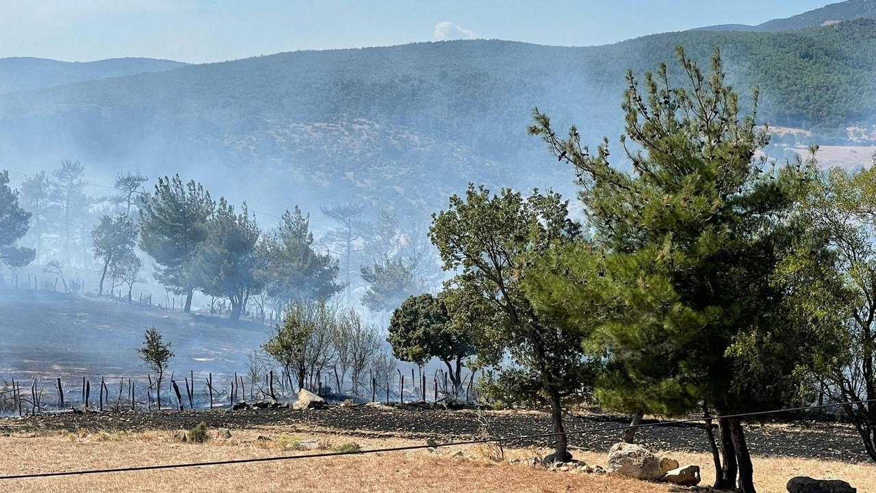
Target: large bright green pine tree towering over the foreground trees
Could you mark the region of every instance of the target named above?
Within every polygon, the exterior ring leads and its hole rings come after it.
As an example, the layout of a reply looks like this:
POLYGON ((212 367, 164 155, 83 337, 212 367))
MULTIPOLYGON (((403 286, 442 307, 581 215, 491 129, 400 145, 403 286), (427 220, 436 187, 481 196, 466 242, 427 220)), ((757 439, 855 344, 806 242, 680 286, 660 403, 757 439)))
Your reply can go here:
MULTIPOLYGON (((759 154, 768 133, 740 110, 717 51, 708 74, 682 49, 678 58, 680 86, 665 65, 644 85, 627 77, 621 148, 632 172, 611 165, 607 140, 591 152, 576 127, 562 138, 535 111, 530 130, 575 169, 601 253, 597 282, 590 246, 540 262, 536 306, 576 313, 597 302, 605 319, 596 325, 565 319, 593 331, 590 344, 610 362, 599 382, 606 404, 667 414, 775 408, 794 396, 807 358, 807 327, 788 317, 778 266, 799 233, 790 212, 808 169, 759 154)), ((719 425, 715 486, 752 493, 741 421, 719 425)))

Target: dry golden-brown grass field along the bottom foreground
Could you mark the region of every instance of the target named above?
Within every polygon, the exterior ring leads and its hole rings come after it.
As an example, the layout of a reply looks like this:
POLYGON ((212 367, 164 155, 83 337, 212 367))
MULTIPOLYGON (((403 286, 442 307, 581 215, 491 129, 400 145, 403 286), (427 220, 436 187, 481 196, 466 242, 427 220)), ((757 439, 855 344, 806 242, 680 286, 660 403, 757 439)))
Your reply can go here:
MULTIPOLYGON (((253 457, 312 454, 350 442, 364 450, 420 445, 410 439, 350 438, 313 428, 290 431, 279 427, 233 430, 231 439, 205 444, 180 442, 167 431, 12 433, 0 437, 0 475, 120 468, 176 462, 222 461, 253 457), (258 439, 259 436, 270 440, 258 439), (300 441, 316 441, 313 452, 298 451, 300 441)), ((4 480, 0 491, 463 491, 583 493, 669 493, 689 491, 666 484, 639 482, 611 475, 552 472, 527 465, 533 454, 547 450, 505 450, 504 461, 493 461, 496 450, 485 446, 441 447, 384 454, 270 461, 227 466, 180 468, 102 475, 4 480), (463 457, 453 458, 463 453, 463 457)), ((710 456, 664 453, 703 468, 703 485, 712 481, 710 456)), ((578 453, 589 464, 605 463, 604 454, 578 453)), ((783 493, 795 475, 837 477, 858 491, 876 491, 876 466, 842 462, 759 457, 755 478, 761 493, 783 493)), ((704 489, 701 489, 704 490, 704 489)))

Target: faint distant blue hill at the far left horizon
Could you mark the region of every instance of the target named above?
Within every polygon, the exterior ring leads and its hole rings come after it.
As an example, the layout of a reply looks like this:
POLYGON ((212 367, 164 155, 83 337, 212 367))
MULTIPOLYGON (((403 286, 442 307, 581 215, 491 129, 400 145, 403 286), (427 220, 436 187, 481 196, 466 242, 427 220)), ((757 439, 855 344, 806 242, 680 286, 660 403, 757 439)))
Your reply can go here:
POLYGON ((70 82, 95 81, 161 72, 185 66, 180 61, 152 58, 115 58, 110 60, 71 62, 42 58, 0 58, 0 93, 43 89, 70 82))

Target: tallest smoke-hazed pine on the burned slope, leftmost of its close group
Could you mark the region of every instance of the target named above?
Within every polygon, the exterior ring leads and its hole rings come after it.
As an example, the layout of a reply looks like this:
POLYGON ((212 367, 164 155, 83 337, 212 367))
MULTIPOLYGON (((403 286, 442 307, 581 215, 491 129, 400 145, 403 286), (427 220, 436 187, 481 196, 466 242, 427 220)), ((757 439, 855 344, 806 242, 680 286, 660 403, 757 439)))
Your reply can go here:
POLYGON ((140 248, 159 264, 155 279, 186 295, 186 313, 191 311, 196 287, 195 250, 207 239, 213 208, 209 192, 201 185, 183 184, 175 175, 159 178, 155 195, 140 211, 140 248))

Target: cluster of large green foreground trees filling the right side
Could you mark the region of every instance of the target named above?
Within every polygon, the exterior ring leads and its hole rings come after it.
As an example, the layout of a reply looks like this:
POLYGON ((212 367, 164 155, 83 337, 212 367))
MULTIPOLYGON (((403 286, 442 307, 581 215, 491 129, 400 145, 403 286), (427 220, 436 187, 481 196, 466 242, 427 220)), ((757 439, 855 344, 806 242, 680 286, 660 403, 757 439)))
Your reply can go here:
POLYGON ((449 356, 429 346, 435 328, 463 336, 470 364, 499 369, 492 397, 550 408, 557 460, 564 405, 590 396, 639 418, 717 416, 717 438, 704 434, 717 489, 754 491, 731 416, 788 404, 840 404, 876 460, 876 413, 859 402, 876 399, 876 171, 825 172, 816 147, 768 160, 757 92, 740 103, 717 52, 707 72, 677 55, 681 84, 665 65, 627 75, 619 149, 534 111, 530 132, 576 174, 583 221, 549 191, 450 198, 429 233, 455 277, 439 304, 393 313, 393 350, 449 356))

